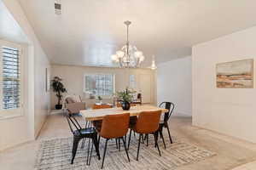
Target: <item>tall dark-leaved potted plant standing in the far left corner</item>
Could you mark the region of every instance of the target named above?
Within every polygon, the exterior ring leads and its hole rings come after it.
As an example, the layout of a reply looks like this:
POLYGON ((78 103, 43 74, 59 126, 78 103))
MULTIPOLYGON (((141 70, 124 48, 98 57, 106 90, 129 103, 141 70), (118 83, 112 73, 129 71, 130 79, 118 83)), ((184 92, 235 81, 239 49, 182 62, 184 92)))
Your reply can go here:
POLYGON ((62 93, 67 92, 67 89, 64 88, 64 85, 61 81, 62 79, 60 77, 54 77, 51 80, 51 87, 53 88, 53 91, 56 93, 56 96, 58 98, 58 104, 55 105, 56 110, 60 110, 62 108, 62 105, 61 105, 62 93))

